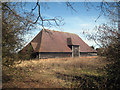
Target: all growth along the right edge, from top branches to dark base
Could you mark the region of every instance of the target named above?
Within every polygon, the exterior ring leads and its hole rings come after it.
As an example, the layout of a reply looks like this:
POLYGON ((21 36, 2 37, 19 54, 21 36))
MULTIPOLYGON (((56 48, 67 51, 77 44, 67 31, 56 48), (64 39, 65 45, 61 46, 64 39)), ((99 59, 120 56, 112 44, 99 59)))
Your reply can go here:
POLYGON ((106 87, 120 88, 120 2, 103 2, 101 10, 107 16, 108 23, 99 25, 95 28, 96 33, 87 37, 100 46, 98 54, 109 61, 105 67, 106 87))

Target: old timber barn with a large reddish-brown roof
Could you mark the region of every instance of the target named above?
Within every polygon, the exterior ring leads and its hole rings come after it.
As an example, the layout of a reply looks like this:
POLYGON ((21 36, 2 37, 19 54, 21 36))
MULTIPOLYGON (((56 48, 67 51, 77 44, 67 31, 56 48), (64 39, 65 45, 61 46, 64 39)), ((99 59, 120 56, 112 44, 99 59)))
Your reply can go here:
POLYGON ((20 52, 28 51, 34 58, 80 57, 96 53, 78 35, 48 29, 42 29, 20 52))

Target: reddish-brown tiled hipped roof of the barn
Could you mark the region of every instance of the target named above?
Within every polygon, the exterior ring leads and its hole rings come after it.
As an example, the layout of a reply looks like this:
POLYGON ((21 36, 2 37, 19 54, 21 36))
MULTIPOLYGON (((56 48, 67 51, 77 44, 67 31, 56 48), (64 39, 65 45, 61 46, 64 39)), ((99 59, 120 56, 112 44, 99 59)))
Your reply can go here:
POLYGON ((34 52, 72 52, 67 45, 67 38, 71 38, 72 45, 80 45, 80 52, 96 52, 76 34, 46 29, 41 30, 29 44, 34 52))

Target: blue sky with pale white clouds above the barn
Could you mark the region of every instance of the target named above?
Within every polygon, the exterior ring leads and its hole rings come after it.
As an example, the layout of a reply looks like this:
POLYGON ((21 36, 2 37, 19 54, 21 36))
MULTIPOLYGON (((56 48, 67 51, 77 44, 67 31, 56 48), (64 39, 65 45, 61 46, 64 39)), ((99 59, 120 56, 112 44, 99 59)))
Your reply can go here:
MULTIPOLYGON (((35 3, 31 4, 35 5, 35 3)), ((29 5, 31 6, 31 4, 29 5)), ((96 6, 99 5, 100 2, 91 2, 89 6, 91 4, 93 6, 96 6)), ((26 9, 29 9, 29 5, 26 9)), ((48 6, 46 6, 46 4, 43 4, 43 7, 41 7, 42 16, 46 18, 61 16, 64 19, 65 24, 60 28, 46 28, 56 31, 75 33, 79 35, 89 46, 96 47, 93 41, 87 40, 85 38, 83 31, 86 32, 87 30, 89 30, 90 32, 94 33, 95 31, 93 29, 95 26, 98 26, 101 23, 105 23, 107 21, 103 16, 101 16, 95 22, 100 14, 100 10, 95 9, 93 6, 90 6, 90 8, 88 9, 85 2, 76 2, 73 4, 73 7, 76 9, 77 12, 74 12, 70 8, 66 7, 66 4, 64 2, 49 2, 47 3, 47 5, 48 6)), ((35 13, 36 15, 38 14, 37 10, 35 13)), ((25 36, 27 42, 30 42, 40 32, 40 30, 41 26, 37 25, 37 29, 30 32, 31 34, 25 36)))

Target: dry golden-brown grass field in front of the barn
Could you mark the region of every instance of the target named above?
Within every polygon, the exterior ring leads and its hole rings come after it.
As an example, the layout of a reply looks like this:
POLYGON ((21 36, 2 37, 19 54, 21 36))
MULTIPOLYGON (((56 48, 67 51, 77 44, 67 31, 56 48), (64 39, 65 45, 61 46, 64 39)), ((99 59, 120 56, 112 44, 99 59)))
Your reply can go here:
POLYGON ((103 58, 51 58, 3 67, 3 88, 103 88, 103 58))

